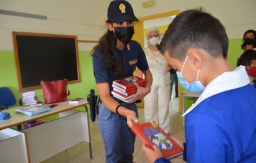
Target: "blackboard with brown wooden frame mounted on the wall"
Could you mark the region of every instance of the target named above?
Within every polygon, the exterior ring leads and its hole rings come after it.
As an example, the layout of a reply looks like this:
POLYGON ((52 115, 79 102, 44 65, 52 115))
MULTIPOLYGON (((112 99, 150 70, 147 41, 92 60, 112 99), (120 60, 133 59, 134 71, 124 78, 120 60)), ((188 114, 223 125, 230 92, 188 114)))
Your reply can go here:
POLYGON ((81 82, 77 36, 12 32, 19 90, 40 89, 41 80, 81 82))

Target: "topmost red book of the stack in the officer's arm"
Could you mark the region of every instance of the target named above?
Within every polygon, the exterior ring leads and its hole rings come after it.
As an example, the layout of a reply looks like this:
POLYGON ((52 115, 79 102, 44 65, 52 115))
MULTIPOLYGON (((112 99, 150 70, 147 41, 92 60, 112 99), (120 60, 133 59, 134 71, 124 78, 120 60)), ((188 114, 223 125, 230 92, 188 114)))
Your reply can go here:
POLYGON ((121 79, 114 80, 113 84, 118 85, 118 87, 121 87, 123 89, 129 89, 132 87, 136 88, 136 86, 134 85, 135 82, 138 84, 143 84, 146 83, 146 80, 139 78, 138 76, 130 75, 121 79))

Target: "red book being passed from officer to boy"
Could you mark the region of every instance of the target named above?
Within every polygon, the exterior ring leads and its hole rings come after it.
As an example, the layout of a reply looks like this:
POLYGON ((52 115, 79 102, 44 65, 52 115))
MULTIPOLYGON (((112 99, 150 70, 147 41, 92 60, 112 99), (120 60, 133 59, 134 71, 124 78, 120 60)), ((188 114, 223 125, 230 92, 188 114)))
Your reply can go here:
POLYGON ((158 126, 155 121, 133 124, 131 130, 153 150, 153 144, 157 145, 166 159, 171 159, 183 154, 182 147, 174 141, 169 134, 158 126))

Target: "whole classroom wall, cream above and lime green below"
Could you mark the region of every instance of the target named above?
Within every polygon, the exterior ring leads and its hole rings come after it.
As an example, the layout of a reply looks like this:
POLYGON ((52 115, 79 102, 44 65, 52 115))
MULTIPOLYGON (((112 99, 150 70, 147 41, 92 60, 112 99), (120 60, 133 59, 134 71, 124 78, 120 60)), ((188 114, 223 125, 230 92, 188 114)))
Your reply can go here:
MULTIPOLYGON (((10 87, 19 99, 17 74, 12 42, 12 31, 77 35, 78 40, 98 40, 105 33, 107 7, 111 0, 1 0, 0 1, 0 87, 10 87), (46 20, 1 14, 3 10, 46 16, 46 20)), ((145 0, 129 0, 136 17, 204 7, 217 17, 226 28, 229 38, 228 59, 233 68, 241 51, 241 38, 245 30, 256 29, 255 0, 155 0, 155 6, 143 8, 145 0)), ((86 97, 90 89, 96 90, 91 56, 95 43, 78 43, 81 83, 69 84, 70 98, 86 97)), ((36 90, 43 100, 42 90, 36 90)))

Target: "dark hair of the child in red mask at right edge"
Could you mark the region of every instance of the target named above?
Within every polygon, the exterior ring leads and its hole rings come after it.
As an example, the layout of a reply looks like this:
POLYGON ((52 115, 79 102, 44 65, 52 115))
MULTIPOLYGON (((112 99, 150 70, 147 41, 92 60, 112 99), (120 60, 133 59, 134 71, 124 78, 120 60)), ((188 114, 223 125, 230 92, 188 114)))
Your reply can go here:
POLYGON ((244 51, 237 60, 237 66, 251 66, 251 61, 256 60, 256 51, 249 49, 244 51))

